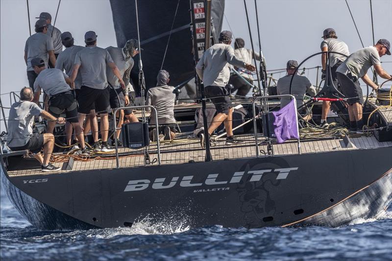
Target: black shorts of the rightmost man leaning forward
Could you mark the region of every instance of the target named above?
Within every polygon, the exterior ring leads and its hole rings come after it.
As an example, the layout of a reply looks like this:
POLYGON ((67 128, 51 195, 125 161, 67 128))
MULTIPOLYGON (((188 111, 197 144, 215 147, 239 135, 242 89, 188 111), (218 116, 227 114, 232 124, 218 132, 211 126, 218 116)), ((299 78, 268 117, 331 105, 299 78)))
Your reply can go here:
POLYGON ((364 104, 364 95, 359 81, 349 75, 337 72, 339 84, 342 88, 344 97, 348 98, 347 103, 353 105, 354 103, 364 104))

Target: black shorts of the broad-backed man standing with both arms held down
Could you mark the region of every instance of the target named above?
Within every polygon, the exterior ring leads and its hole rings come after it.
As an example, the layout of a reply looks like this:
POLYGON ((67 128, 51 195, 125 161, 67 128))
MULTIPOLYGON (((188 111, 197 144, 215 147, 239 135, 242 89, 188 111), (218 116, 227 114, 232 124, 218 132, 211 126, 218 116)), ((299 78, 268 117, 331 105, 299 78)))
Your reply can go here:
POLYGON ((89 114, 91 110, 96 110, 98 114, 110 112, 110 90, 106 87, 103 90, 82 86, 77 95, 79 103, 78 112, 89 114))

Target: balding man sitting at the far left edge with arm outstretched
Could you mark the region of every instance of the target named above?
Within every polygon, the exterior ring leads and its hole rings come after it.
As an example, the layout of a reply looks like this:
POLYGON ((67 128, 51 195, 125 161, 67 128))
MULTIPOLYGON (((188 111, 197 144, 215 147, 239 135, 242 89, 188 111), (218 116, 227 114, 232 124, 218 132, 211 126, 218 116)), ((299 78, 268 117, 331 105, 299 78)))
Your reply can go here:
POLYGON ((54 136, 52 133, 33 133, 34 116, 41 115, 53 122, 64 123, 64 118, 56 118, 47 111, 41 109, 37 104, 31 102, 33 90, 24 87, 20 94, 20 100, 12 104, 8 117, 8 135, 5 138, 11 150, 30 150, 34 153, 41 164, 44 172, 58 171, 61 168, 50 164, 50 155, 53 151, 54 136), (44 148, 44 157, 40 151, 44 148))

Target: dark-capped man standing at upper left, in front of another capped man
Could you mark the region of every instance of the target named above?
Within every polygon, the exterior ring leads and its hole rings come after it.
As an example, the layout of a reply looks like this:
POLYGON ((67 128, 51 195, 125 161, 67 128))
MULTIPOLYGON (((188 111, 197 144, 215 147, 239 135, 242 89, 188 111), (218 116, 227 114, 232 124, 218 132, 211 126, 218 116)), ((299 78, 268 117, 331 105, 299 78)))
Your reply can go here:
POLYGON ((48 25, 46 20, 40 19, 35 23, 35 34, 27 38, 25 44, 25 63, 27 65, 27 79, 28 85, 34 91, 34 81, 37 74, 31 66, 31 60, 35 57, 40 57, 44 60, 45 66, 48 67, 48 61, 53 64, 56 63, 56 57, 53 51, 53 42, 47 34, 48 25))

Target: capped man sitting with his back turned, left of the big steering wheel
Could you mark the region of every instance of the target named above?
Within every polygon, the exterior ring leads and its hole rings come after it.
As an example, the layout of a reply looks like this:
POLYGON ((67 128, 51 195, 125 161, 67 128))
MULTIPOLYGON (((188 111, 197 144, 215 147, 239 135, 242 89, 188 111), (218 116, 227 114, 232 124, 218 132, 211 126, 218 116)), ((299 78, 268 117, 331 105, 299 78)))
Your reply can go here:
MULTIPOLYGON (((308 78, 302 75, 295 74, 291 85, 291 93, 290 93, 291 78, 293 77, 293 74, 296 71, 297 67, 298 67, 297 61, 290 60, 287 62, 286 65, 287 74, 286 76, 283 76, 278 80, 276 89, 278 95, 288 95, 288 94, 294 95, 298 108, 299 106, 303 105, 303 98, 305 94, 308 93, 309 95, 314 96, 316 95, 316 89, 310 83, 308 78)), ((290 97, 280 98, 280 108, 283 108, 284 106, 289 104, 290 101, 291 101, 290 97)), ((310 112, 307 111, 306 117, 304 117, 305 120, 310 119, 309 114, 310 112)))

